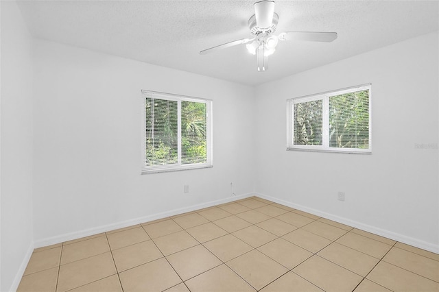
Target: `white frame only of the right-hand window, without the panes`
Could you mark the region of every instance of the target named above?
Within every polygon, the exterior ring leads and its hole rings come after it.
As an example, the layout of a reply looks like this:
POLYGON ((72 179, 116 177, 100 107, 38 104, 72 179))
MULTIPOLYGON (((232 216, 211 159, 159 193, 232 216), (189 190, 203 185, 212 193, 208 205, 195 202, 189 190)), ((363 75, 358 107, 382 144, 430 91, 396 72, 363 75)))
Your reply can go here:
POLYGON ((314 95, 294 97, 287 99, 287 151, 321 151, 351 154, 372 154, 372 84, 362 84, 338 90, 331 90, 314 95), (369 90, 369 136, 367 149, 360 148, 337 148, 329 147, 329 98, 336 95, 353 93, 361 90, 369 90), (322 100, 322 145, 295 145, 294 144, 294 104, 301 104, 308 101, 322 100))

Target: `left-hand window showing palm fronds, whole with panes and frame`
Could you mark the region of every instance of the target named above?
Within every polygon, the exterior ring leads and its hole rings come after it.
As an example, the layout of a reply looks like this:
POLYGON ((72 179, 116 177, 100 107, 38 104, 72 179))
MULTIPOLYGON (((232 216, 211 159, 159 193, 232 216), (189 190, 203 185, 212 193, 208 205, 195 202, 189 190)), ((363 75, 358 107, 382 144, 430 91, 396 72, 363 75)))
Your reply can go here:
POLYGON ((212 101, 142 90, 142 173, 212 167, 212 101))

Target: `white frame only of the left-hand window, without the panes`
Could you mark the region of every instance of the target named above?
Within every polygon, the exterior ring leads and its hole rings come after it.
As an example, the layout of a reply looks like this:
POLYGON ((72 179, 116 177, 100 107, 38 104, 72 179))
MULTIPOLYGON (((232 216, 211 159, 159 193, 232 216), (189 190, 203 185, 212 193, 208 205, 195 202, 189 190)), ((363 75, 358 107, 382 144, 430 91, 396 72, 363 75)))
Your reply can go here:
POLYGON ((202 169, 202 168, 209 168, 213 167, 213 135, 212 135, 212 129, 213 129, 213 110, 212 110, 212 101, 211 99, 203 99, 198 97, 189 97, 186 95, 176 95, 172 93, 161 93, 158 91, 152 91, 152 90, 141 90, 142 93, 142 147, 141 147, 141 153, 142 153, 142 167, 141 167, 141 174, 148 174, 148 173, 161 173, 161 172, 169 172, 169 171, 183 171, 188 169, 202 169), (177 129, 177 141, 178 141, 178 162, 176 164, 171 165, 154 165, 153 167, 146 165, 146 99, 152 98, 152 99, 165 99, 169 101, 177 101, 177 123, 178 123, 178 129, 177 129), (202 104, 206 104, 206 162, 203 163, 191 163, 191 164, 182 164, 182 133, 181 133, 181 102, 182 101, 191 101, 191 102, 198 102, 202 104))

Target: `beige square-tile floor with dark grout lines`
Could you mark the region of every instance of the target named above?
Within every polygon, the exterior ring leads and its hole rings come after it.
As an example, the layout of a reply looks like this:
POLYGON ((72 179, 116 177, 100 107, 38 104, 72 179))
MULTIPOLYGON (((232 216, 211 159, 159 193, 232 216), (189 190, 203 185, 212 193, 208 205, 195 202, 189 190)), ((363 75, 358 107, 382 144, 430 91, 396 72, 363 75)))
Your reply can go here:
POLYGON ((34 250, 18 291, 439 291, 439 255, 259 197, 34 250))

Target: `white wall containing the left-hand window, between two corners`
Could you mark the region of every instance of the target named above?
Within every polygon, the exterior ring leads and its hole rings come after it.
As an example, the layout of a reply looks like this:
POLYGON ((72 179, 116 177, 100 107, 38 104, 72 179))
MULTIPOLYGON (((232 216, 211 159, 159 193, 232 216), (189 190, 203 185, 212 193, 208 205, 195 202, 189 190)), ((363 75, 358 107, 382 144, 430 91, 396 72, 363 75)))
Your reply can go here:
POLYGON ((34 62, 36 245, 254 191, 254 88, 43 40, 34 62), (213 100, 213 168, 141 175, 142 89, 213 100))

